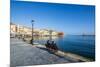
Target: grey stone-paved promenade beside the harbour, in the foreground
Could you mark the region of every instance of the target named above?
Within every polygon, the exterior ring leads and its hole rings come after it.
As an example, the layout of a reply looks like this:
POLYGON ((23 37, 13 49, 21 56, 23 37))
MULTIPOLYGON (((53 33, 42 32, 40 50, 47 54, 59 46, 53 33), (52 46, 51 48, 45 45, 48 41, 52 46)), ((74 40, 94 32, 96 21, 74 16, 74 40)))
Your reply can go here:
POLYGON ((10 40, 10 49, 11 67, 72 62, 69 58, 57 56, 15 38, 10 40))

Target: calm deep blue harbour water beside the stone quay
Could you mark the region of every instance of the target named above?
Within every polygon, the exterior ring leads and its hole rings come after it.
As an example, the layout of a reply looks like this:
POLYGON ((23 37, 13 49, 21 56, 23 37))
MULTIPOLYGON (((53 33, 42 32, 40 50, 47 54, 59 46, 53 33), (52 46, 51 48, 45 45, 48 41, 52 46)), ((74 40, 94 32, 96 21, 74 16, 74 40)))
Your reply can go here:
MULTIPOLYGON (((45 44, 49 37, 38 37, 35 42, 45 44)), ((92 35, 66 35, 52 37, 59 48, 64 52, 71 52, 95 60, 95 36, 92 35)))

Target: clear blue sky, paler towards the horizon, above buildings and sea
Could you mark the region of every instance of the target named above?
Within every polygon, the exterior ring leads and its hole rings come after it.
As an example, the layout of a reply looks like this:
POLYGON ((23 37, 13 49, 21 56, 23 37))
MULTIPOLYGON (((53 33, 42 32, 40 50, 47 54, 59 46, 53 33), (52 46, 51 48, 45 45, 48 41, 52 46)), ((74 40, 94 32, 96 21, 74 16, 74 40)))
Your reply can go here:
POLYGON ((11 22, 64 34, 94 34, 95 6, 11 1, 11 22))

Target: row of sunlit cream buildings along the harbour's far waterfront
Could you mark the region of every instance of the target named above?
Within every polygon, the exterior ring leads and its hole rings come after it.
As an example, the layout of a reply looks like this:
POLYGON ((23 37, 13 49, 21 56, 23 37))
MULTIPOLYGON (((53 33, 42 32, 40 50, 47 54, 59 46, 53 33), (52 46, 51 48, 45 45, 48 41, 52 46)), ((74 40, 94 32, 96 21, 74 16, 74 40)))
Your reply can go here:
MULTIPOLYGON (((15 25, 11 23, 10 25, 10 33, 13 35, 27 35, 32 36, 32 28, 21 26, 21 25, 15 25)), ((33 35, 35 36, 57 36, 59 32, 56 32, 54 30, 48 30, 48 29, 34 29, 33 35)))

